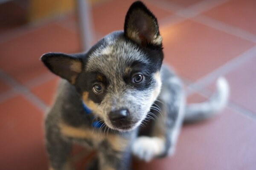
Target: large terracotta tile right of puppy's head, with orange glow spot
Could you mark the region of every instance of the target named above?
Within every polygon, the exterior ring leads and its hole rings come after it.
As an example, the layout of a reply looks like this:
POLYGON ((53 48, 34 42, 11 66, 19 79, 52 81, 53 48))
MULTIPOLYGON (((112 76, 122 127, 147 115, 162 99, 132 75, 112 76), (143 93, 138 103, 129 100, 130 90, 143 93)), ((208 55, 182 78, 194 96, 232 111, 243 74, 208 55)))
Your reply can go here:
POLYGON ((165 61, 181 76, 197 80, 251 48, 254 43, 191 20, 162 27, 165 61))

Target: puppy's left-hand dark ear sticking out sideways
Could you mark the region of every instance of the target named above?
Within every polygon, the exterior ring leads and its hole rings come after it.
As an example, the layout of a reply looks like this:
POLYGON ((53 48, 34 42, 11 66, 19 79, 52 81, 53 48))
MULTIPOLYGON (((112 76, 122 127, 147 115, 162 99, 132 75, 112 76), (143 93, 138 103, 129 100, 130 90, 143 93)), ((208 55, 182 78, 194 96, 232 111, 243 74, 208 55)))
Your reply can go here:
POLYGON ((74 84, 76 77, 82 71, 81 59, 62 53, 47 53, 41 57, 44 65, 54 74, 67 79, 74 84))

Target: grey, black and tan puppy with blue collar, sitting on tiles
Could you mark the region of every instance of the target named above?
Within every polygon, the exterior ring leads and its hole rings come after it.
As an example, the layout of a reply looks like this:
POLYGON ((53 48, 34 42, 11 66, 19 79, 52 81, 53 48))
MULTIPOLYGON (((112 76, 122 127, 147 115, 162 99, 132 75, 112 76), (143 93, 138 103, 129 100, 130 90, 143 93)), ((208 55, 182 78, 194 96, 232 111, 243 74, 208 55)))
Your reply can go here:
POLYGON ((129 8, 124 31, 85 53, 48 53, 41 61, 63 78, 45 120, 52 170, 73 169, 73 143, 98 151, 92 170, 128 170, 131 155, 170 156, 183 121, 211 117, 228 98, 220 78, 209 101, 186 105, 180 79, 162 66, 157 19, 140 1, 129 8))

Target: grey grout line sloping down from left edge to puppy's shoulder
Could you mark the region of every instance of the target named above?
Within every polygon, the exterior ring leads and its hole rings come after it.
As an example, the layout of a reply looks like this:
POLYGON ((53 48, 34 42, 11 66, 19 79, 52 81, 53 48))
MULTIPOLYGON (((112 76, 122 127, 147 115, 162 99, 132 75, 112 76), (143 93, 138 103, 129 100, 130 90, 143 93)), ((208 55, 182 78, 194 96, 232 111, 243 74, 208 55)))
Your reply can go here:
POLYGON ((23 85, 20 85, 15 79, 13 79, 11 76, 6 74, 1 69, 0 69, 0 79, 5 80, 5 82, 7 82, 8 85, 16 89, 17 91, 19 91, 21 94, 23 94, 26 99, 28 99, 35 106, 37 106, 43 113, 47 110, 47 105, 45 105, 44 102, 42 102, 41 99, 39 99, 37 96, 32 94, 29 91, 29 88, 26 88, 23 85))

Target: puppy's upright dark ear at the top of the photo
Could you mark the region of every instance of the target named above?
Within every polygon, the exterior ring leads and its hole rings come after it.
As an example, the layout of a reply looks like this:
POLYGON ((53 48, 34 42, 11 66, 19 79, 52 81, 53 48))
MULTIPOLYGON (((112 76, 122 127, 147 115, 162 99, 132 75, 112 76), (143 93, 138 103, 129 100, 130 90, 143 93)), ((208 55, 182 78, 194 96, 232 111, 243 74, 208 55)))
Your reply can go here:
POLYGON ((140 1, 134 2, 125 17, 125 36, 142 46, 162 46, 157 18, 140 1))

